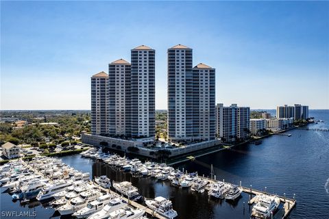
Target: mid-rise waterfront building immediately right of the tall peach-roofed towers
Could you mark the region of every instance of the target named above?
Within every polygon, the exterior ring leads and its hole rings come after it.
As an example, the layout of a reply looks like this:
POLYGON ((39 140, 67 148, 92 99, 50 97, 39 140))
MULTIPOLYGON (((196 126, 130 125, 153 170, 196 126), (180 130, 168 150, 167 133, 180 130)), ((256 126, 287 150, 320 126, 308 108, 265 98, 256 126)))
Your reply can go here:
POLYGON ((238 107, 236 104, 224 107, 216 106, 216 133, 223 142, 233 142, 249 138, 250 108, 238 107))

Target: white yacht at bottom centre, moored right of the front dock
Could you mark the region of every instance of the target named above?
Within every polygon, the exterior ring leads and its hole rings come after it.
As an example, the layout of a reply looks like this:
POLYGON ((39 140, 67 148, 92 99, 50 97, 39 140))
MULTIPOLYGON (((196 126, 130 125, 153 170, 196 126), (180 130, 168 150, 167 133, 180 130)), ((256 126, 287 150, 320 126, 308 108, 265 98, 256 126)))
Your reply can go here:
POLYGON ((147 207, 156 211, 165 218, 175 218, 178 216, 177 212, 173 209, 173 203, 171 203, 171 201, 167 198, 158 196, 154 199, 146 199, 145 204, 147 207))

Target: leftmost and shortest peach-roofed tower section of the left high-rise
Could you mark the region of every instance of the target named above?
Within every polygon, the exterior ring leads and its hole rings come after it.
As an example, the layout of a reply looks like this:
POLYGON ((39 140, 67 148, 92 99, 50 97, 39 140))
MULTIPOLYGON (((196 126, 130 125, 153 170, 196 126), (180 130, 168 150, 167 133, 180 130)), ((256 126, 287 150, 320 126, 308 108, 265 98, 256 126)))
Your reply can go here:
POLYGON ((108 133, 108 74, 101 72, 91 77, 91 133, 108 133))

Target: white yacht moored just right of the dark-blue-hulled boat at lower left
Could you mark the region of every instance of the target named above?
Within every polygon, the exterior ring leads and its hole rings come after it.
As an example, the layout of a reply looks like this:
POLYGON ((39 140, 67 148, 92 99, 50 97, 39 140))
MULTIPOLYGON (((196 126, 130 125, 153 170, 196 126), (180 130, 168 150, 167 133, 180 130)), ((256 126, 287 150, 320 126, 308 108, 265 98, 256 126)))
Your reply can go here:
POLYGON ((36 196, 36 200, 44 201, 53 198, 53 194, 56 194, 56 192, 62 192, 63 190, 66 189, 66 187, 70 185, 72 185, 72 181, 66 181, 66 180, 55 181, 53 184, 49 184, 45 188, 42 188, 38 196, 36 196))

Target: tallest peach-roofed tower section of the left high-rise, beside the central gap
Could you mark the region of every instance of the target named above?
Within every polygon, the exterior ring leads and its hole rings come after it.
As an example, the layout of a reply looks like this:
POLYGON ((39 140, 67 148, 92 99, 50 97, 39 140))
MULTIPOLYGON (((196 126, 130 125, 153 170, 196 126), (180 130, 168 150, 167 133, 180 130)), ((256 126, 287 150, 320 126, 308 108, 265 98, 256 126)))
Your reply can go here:
POLYGON ((131 135, 155 136, 155 54, 145 45, 132 49, 131 66, 131 135))

